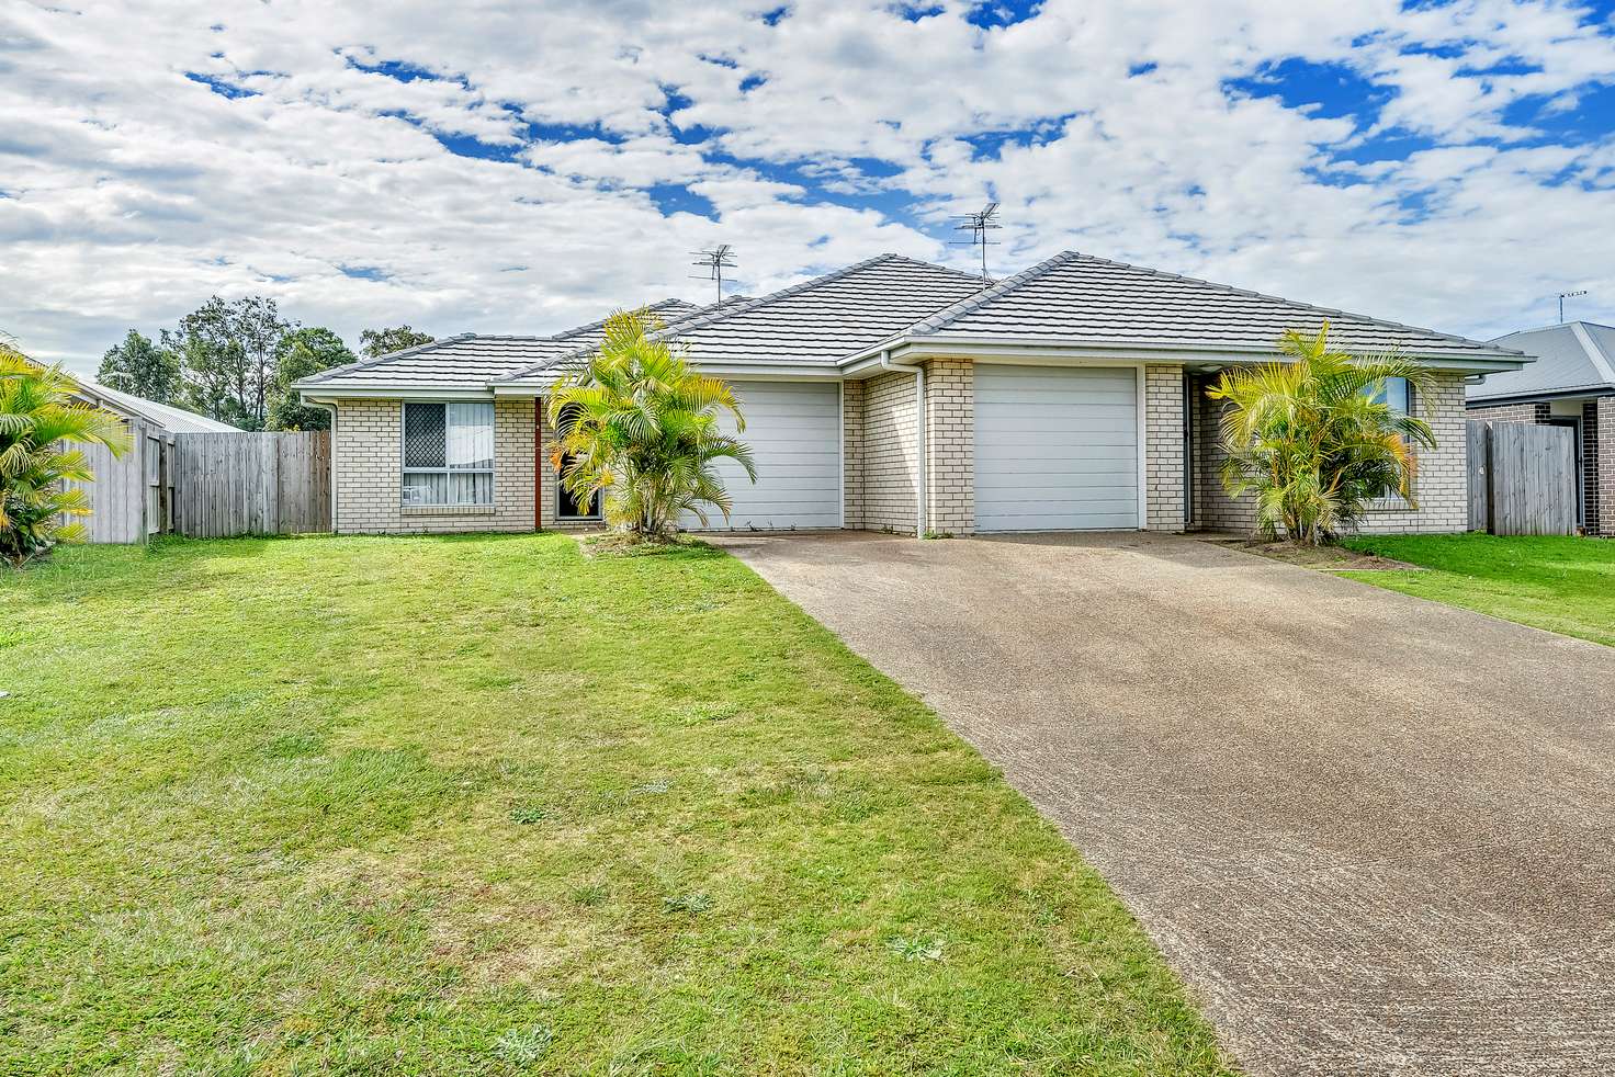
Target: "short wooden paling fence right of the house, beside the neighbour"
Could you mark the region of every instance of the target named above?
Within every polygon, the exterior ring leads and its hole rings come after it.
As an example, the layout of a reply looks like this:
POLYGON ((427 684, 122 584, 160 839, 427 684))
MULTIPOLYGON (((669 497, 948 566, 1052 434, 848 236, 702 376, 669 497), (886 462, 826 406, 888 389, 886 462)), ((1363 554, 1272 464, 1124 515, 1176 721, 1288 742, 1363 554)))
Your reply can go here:
POLYGON ((1576 533, 1576 441, 1567 426, 1471 418, 1470 530, 1576 533))

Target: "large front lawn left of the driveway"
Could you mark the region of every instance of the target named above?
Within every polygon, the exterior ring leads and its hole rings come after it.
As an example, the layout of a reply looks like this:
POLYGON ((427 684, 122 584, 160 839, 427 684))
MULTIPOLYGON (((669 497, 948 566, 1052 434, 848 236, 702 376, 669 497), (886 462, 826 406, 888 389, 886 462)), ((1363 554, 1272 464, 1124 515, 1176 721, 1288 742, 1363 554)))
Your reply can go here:
POLYGON ((0 1072, 1227 1072, 1055 830, 717 551, 176 541, 0 606, 0 1072))

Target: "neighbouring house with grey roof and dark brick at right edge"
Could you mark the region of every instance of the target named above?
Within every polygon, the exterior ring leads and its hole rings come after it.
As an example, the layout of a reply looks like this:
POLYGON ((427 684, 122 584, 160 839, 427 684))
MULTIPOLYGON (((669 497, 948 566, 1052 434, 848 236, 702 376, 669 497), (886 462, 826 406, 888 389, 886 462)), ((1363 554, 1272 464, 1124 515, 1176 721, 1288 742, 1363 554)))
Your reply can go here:
POLYGON ((1537 358, 1471 384, 1470 417, 1573 430, 1576 522, 1588 534, 1615 536, 1615 326, 1570 321, 1492 344, 1537 358))

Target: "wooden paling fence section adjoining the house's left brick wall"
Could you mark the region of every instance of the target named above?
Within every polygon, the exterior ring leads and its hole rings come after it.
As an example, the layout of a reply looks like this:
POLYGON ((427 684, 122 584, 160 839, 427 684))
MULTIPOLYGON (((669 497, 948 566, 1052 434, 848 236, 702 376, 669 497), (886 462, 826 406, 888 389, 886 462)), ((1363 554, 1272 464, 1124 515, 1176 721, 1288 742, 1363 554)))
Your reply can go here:
POLYGON ((331 434, 174 434, 174 531, 191 538, 331 530, 331 434))

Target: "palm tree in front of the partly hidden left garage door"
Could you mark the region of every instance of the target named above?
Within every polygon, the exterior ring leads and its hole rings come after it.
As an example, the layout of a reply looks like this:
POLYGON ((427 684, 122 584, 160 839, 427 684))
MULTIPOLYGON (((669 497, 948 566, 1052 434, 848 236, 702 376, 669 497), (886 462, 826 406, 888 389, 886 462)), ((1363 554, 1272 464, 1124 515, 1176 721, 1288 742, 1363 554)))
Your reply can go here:
POLYGON ((670 538, 685 512, 704 526, 707 505, 728 518, 717 460, 757 481, 751 450, 720 426, 728 412, 746 430, 733 391, 693 371, 661 328, 644 310, 617 312, 599 350, 549 397, 562 486, 580 504, 604 497, 607 523, 641 539, 670 538))

